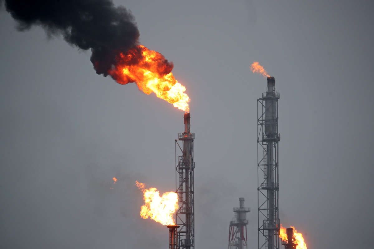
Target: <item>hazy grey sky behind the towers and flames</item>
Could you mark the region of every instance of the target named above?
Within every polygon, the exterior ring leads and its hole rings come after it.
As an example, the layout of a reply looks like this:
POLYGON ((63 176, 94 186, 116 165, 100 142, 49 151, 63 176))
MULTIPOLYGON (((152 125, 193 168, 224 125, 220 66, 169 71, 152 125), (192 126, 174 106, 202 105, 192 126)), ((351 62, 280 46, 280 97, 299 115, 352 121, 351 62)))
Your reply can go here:
MULTIPOLYGON (((227 248, 245 197, 257 248, 256 99, 276 79, 280 218, 308 248, 370 248, 372 1, 115 1, 191 98, 196 248, 227 248)), ((2 248, 167 248, 135 180, 175 190, 183 112, 96 75, 89 51, 0 10, 2 248), (113 185, 112 177, 118 179, 113 185), (110 189, 114 187, 114 189, 110 189)))

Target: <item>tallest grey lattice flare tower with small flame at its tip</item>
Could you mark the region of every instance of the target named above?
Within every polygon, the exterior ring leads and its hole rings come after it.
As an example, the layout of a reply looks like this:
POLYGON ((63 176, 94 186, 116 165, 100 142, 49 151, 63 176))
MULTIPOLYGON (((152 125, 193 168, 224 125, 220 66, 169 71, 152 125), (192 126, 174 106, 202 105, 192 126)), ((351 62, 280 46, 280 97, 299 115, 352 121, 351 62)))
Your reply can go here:
POLYGON ((257 100, 258 248, 279 249, 278 100, 274 77, 257 100))

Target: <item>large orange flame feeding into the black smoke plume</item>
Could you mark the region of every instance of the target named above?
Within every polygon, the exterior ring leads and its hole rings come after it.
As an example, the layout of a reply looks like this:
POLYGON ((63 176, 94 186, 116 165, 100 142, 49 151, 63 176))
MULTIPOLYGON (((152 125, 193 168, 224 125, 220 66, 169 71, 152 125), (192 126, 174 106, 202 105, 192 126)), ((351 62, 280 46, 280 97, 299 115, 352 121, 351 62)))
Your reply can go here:
POLYGON ((119 84, 135 82, 146 94, 155 93, 160 99, 180 110, 189 111, 186 87, 178 83, 172 74, 173 64, 159 52, 138 45, 126 53, 120 53, 117 62, 108 73, 119 84))

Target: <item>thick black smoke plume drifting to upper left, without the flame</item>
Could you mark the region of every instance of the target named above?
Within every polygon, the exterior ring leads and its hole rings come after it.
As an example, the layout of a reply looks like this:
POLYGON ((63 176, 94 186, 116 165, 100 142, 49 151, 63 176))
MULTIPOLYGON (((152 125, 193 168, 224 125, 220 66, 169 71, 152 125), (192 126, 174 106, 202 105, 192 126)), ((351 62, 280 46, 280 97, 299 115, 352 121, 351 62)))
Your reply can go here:
POLYGON ((71 45, 91 49, 93 67, 104 76, 116 55, 138 45, 134 16, 111 0, 5 0, 5 8, 19 31, 41 26, 49 36, 62 35, 71 45))

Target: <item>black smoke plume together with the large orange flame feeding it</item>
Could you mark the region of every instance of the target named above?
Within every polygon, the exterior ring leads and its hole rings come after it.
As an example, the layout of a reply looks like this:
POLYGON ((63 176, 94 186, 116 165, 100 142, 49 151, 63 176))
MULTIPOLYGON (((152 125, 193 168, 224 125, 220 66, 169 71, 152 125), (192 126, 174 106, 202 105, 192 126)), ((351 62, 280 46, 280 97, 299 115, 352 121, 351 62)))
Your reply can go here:
MULTIPOLYGON (((49 36, 62 34, 65 41, 92 51, 91 62, 97 74, 109 74, 119 84, 135 82, 146 94, 188 111, 186 88, 171 73, 173 63, 159 52, 139 45, 135 18, 113 0, 7 0, 6 10, 18 21, 18 30, 33 25, 43 27, 49 36)), ((0 0, 0 7, 2 1, 0 0)))

